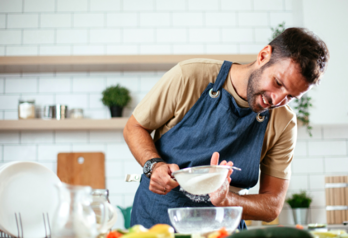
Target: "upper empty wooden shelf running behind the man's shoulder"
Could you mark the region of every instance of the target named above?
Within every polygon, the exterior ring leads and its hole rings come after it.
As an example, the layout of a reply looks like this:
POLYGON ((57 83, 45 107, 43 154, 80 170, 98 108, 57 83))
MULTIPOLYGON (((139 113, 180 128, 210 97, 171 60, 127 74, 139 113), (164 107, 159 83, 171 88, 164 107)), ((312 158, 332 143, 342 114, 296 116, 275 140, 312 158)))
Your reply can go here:
POLYGON ((249 63, 257 55, 5 56, 0 73, 169 70, 194 58, 249 63))

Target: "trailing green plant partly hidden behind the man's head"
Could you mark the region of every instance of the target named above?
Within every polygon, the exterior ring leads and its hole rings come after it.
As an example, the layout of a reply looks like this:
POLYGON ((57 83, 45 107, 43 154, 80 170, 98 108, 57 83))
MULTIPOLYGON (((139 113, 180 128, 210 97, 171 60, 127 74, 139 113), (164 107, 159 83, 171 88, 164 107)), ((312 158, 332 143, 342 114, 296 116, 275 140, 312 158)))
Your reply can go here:
MULTIPOLYGON (((281 24, 278 24, 277 27, 271 27, 270 29, 272 31, 272 37, 269 40, 272 41, 285 30, 285 21, 283 21, 281 24)), ((310 107, 312 107, 311 98, 307 95, 303 95, 301 99, 296 99, 294 101, 294 109, 297 110, 297 124, 300 126, 306 126, 307 133, 310 137, 312 137, 312 126, 309 125, 310 107)))

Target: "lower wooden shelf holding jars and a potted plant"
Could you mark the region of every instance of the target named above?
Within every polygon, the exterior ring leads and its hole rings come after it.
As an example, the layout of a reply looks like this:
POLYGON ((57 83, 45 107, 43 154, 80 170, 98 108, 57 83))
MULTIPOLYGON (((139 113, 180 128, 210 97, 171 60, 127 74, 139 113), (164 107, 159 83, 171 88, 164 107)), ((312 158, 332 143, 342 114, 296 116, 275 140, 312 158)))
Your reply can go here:
POLYGON ((0 120, 0 131, 14 130, 123 130, 128 118, 0 120))

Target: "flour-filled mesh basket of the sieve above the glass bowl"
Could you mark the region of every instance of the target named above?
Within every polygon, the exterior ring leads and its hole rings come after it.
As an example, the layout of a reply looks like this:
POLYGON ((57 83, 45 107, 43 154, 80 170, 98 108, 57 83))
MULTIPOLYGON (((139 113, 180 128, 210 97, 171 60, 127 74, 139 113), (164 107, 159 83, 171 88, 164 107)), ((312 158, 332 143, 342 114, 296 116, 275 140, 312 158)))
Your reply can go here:
POLYGON ((225 165, 197 166, 175 171, 172 177, 186 192, 203 195, 220 188, 230 168, 225 165))

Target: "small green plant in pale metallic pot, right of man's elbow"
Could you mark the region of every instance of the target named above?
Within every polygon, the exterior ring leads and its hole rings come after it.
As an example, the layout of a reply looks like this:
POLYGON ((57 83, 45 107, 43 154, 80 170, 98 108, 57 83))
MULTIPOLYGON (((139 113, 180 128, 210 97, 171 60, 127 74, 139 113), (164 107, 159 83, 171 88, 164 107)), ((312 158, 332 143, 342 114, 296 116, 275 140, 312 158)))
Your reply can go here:
POLYGON ((312 198, 305 191, 292 194, 292 197, 286 199, 286 202, 292 208, 295 224, 307 224, 308 208, 312 198))

